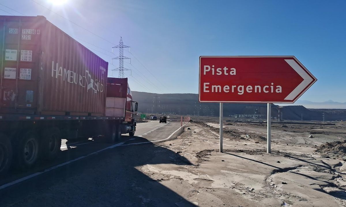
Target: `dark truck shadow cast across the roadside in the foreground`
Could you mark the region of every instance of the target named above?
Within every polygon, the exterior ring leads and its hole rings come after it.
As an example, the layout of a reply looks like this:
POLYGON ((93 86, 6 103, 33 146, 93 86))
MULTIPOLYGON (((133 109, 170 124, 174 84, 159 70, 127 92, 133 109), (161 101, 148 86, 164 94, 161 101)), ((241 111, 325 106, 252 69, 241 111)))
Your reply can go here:
MULTIPOLYGON (((133 138, 131 142, 122 141, 124 146, 87 156, 1 190, 1 206, 195 206, 176 193, 183 190, 179 185, 170 185, 174 191, 163 185, 179 178, 143 169, 155 168, 156 164, 192 163, 168 147, 142 137, 133 138)), ((54 164, 85 156, 104 146, 109 145, 99 142, 64 150, 54 164)), ((35 171, 40 169, 31 173, 35 171)))

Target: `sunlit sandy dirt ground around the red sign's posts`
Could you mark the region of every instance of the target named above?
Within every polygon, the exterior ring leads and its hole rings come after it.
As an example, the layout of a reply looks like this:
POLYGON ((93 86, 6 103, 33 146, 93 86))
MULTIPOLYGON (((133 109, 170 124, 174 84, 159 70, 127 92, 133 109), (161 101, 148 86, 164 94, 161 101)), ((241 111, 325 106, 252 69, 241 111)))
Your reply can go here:
POLYGON ((159 144, 192 164, 136 168, 196 206, 346 206, 345 162, 335 150, 315 151, 327 141, 343 142, 345 125, 273 124, 271 154, 265 124, 224 126, 224 153, 218 124, 192 122, 178 139, 159 144))

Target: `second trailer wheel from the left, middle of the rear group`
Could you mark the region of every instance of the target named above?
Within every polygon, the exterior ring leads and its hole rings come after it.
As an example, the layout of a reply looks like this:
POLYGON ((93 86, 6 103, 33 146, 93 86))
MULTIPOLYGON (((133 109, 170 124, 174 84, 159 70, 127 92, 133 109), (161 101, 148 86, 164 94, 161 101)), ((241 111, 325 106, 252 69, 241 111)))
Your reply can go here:
POLYGON ((32 167, 38 160, 39 142, 38 135, 29 131, 24 133, 19 140, 17 154, 17 167, 26 169, 32 167))

